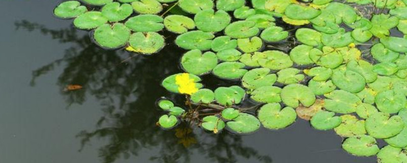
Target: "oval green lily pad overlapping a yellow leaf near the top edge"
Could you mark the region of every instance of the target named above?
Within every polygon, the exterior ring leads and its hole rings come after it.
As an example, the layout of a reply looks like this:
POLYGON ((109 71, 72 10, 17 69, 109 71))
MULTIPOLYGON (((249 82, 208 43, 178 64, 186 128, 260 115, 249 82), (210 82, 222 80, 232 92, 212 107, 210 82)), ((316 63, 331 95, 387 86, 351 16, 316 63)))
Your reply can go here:
POLYGON ((318 16, 321 14, 321 10, 314 9, 310 6, 290 4, 285 8, 284 14, 291 19, 305 20, 318 16))

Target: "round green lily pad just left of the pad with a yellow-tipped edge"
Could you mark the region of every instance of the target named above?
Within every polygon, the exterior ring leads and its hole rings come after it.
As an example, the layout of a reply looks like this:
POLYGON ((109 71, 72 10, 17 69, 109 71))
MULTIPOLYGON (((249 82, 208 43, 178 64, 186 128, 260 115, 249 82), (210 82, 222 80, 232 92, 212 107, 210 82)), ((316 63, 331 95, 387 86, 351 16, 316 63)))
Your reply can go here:
POLYGON ((122 23, 103 24, 95 30, 93 37, 102 47, 118 48, 127 44, 130 30, 122 23))

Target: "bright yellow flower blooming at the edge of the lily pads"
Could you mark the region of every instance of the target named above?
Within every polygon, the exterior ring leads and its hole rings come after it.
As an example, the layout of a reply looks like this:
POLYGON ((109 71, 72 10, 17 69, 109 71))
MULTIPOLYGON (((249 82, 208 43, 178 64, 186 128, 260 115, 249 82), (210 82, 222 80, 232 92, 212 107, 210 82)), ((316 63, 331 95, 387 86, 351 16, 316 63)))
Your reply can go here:
POLYGON ((188 73, 176 75, 175 82, 178 85, 178 92, 182 94, 192 95, 198 91, 194 79, 190 78, 188 73))

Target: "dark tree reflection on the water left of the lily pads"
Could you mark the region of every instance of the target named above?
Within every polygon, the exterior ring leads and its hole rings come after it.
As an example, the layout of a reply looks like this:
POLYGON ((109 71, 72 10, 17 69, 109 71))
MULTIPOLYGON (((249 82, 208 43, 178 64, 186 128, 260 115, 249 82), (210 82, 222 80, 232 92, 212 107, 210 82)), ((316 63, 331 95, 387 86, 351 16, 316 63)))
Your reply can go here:
MULTIPOLYGON (((60 66, 64 71, 57 85, 66 98, 67 108, 84 103, 87 96, 100 102, 104 116, 95 122, 94 130, 80 131, 77 138, 81 141, 80 150, 93 140, 107 140, 98 149, 102 162, 137 156, 153 147, 159 149, 150 157, 155 162, 190 162, 193 154, 216 162, 237 162, 242 157, 272 162, 269 156, 243 145, 242 137, 234 134, 206 134, 185 124, 166 131, 155 125, 162 114, 155 106, 160 96, 166 95, 178 103, 183 100, 182 96, 170 94, 160 85, 166 76, 181 72, 178 63, 183 51, 175 45, 168 44, 157 55, 134 56, 123 62, 133 53, 102 49, 91 41, 88 32, 73 27, 51 30, 26 20, 15 25, 17 30, 39 31, 61 43, 73 44, 61 59, 34 70, 31 84, 35 86, 38 77, 60 66), (81 85, 83 89, 63 91, 72 84, 81 85)), ((173 39, 175 37, 169 35, 167 43, 173 39)))

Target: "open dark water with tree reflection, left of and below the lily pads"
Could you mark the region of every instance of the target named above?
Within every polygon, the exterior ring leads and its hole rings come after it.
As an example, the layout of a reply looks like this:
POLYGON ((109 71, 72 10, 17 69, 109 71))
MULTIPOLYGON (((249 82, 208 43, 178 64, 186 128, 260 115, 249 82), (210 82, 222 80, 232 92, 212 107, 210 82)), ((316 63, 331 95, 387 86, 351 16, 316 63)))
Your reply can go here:
POLYGON ((0 1, 0 162, 375 162, 347 154, 333 130, 301 119, 278 131, 238 136, 196 128, 177 138, 155 125, 162 114, 155 101, 183 99, 160 86, 182 71, 183 50, 168 45, 120 64, 132 54, 103 50, 71 20, 54 18, 59 3, 0 1), (64 91, 70 84, 83 89, 64 91), (196 144, 179 143, 186 139, 196 144))

